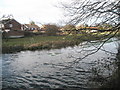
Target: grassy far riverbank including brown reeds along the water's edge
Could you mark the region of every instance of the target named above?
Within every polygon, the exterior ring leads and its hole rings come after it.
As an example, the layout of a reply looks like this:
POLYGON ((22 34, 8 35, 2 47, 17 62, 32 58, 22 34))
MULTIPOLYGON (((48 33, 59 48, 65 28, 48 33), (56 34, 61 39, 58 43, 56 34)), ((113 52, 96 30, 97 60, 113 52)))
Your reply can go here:
POLYGON ((83 41, 105 39, 104 34, 77 34, 66 36, 32 36, 2 40, 2 53, 13 53, 24 50, 55 49, 78 45, 83 41))

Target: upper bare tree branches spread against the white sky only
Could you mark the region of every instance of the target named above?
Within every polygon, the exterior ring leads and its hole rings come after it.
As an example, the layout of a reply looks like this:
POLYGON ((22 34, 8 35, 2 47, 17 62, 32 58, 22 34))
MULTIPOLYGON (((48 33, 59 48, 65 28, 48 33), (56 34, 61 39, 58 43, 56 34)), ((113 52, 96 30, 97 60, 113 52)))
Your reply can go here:
POLYGON ((71 4, 63 4, 68 11, 67 16, 72 18, 71 23, 112 23, 119 24, 119 0, 75 0, 71 4))

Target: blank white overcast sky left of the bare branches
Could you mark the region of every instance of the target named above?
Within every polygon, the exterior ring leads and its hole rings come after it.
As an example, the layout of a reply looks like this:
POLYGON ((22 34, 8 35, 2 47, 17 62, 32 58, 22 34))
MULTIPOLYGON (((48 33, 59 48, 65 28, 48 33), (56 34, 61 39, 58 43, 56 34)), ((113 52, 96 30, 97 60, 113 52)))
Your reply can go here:
POLYGON ((0 0, 0 17, 12 14, 20 23, 31 20, 44 23, 58 23, 63 10, 55 7, 64 0, 0 0))

